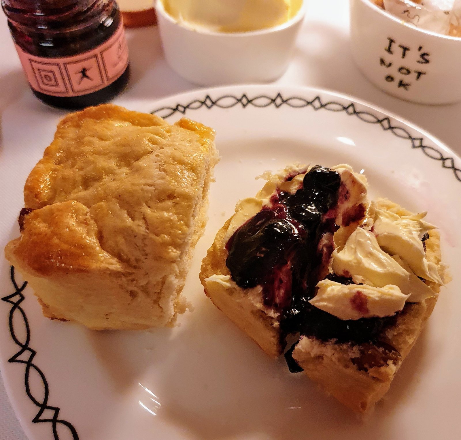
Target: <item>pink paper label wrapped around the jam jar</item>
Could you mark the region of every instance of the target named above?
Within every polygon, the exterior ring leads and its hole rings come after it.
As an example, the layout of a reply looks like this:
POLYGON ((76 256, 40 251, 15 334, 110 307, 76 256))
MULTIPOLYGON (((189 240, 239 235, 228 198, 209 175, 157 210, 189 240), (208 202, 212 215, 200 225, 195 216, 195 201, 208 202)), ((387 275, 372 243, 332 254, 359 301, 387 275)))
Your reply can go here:
POLYGON ((52 96, 79 96, 104 89, 128 65, 123 23, 96 48, 63 58, 42 58, 16 45, 19 59, 32 89, 52 96))

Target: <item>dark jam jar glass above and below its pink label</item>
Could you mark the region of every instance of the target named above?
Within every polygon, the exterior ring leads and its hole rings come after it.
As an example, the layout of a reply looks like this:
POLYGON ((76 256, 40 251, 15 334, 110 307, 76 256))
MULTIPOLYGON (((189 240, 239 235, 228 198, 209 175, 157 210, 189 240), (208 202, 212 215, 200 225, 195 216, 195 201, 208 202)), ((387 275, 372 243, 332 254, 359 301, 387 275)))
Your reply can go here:
MULTIPOLYGON (((121 14, 113 0, 3 0, 2 6, 19 48, 47 59, 89 52, 110 39, 121 24, 121 14)), ((112 100, 129 78, 127 65, 115 81, 84 95, 54 96, 34 88, 32 92, 54 107, 77 109, 112 100)))

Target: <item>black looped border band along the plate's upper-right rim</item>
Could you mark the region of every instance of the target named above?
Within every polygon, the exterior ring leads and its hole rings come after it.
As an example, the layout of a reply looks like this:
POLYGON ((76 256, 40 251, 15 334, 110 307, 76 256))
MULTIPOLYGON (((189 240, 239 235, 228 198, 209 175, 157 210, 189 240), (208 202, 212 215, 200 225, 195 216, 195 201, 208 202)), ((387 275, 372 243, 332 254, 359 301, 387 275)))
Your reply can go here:
POLYGON ((452 170, 456 180, 461 182, 461 169, 455 166, 455 159, 453 157, 445 157, 437 148, 424 145, 424 138, 411 136, 410 133, 408 133, 408 131, 402 126, 392 125, 389 116, 379 118, 369 111, 364 112, 357 110, 353 102, 348 105, 344 105, 340 102, 328 101, 324 104, 320 99, 320 96, 316 96, 312 101, 309 101, 299 96, 284 98, 281 93, 278 93, 275 98, 271 98, 266 95, 248 98, 246 93, 244 93, 240 98, 233 95, 223 95, 219 98, 213 99, 210 95, 206 95, 203 100, 196 99, 186 105, 177 104, 176 107, 162 107, 151 113, 161 116, 162 118, 168 118, 175 113, 185 114, 187 110, 198 110, 201 107, 207 107, 208 109, 212 107, 231 108, 238 104, 240 104, 243 108, 246 108, 249 105, 260 108, 269 107, 271 105, 276 108, 283 105, 293 108, 312 107, 315 111, 324 108, 330 112, 346 112, 349 116, 355 115, 363 122, 368 124, 378 124, 384 131, 390 130, 393 135, 402 139, 408 139, 411 142, 411 148, 419 148, 427 157, 430 157, 435 161, 440 161, 442 163, 442 167, 452 170))

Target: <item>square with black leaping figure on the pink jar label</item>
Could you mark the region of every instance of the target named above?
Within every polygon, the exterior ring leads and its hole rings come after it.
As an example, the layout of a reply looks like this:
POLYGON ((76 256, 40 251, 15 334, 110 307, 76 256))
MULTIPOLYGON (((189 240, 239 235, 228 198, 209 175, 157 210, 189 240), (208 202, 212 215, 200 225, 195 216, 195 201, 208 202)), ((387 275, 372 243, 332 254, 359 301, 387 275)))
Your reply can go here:
POLYGON ((65 71, 74 92, 100 89, 104 83, 97 55, 64 63, 65 71))

